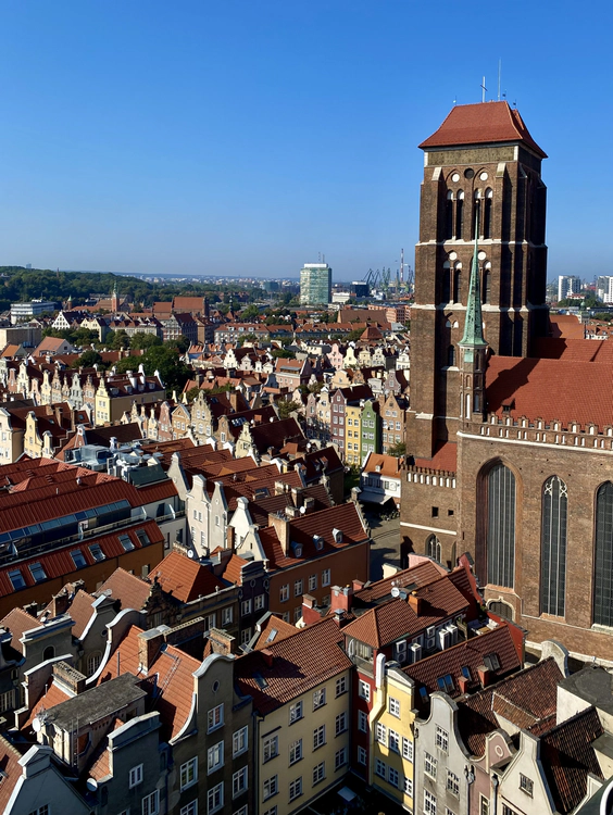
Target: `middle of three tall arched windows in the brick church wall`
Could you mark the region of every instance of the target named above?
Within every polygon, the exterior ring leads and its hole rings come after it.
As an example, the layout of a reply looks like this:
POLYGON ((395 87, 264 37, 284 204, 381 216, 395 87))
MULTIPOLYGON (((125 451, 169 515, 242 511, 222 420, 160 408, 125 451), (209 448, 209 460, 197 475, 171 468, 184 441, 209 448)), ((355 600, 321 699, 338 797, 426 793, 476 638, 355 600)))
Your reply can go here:
POLYGON ((558 476, 551 476, 542 491, 540 611, 558 617, 564 616, 567 516, 566 485, 558 476))

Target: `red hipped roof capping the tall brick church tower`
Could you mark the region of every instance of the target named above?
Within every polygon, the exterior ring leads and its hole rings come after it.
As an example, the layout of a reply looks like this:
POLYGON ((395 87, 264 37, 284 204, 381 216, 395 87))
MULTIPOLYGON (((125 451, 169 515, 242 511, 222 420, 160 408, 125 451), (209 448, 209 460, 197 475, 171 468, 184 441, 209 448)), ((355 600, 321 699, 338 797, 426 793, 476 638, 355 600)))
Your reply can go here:
POLYGON ((520 112, 510 108, 509 102, 458 104, 452 108, 438 130, 422 141, 420 147, 428 150, 501 141, 522 141, 541 159, 547 159, 547 153, 530 136, 520 112))

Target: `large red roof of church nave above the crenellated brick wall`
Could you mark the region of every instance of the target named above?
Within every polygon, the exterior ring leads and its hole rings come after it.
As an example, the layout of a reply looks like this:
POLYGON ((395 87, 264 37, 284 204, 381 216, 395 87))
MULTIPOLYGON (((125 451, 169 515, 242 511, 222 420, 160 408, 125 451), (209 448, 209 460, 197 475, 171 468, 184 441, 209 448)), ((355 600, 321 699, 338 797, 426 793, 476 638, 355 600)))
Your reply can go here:
POLYGON ((488 412, 500 418, 525 416, 547 424, 556 419, 563 426, 596 424, 601 431, 613 425, 613 372, 609 365, 491 356, 486 383, 488 412))

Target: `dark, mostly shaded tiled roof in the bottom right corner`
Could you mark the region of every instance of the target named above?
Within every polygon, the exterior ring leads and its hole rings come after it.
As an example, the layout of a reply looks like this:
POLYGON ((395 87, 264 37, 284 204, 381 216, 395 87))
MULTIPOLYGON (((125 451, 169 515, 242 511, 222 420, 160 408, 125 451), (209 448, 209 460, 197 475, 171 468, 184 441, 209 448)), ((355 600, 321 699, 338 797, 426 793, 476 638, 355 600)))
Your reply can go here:
POLYGON ((602 778, 591 743, 603 734, 593 707, 541 736, 540 757, 555 810, 570 813, 587 794, 588 774, 602 778))

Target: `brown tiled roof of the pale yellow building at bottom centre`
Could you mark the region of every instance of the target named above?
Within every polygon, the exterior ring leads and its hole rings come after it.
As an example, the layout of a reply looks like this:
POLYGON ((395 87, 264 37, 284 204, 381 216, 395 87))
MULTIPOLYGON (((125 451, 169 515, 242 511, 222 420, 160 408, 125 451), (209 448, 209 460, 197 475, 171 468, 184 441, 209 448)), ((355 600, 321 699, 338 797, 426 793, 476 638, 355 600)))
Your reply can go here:
POLYGON ((263 650, 236 661, 240 692, 253 698, 262 715, 306 693, 333 676, 352 667, 341 648, 342 634, 330 617, 301 628, 263 650))

